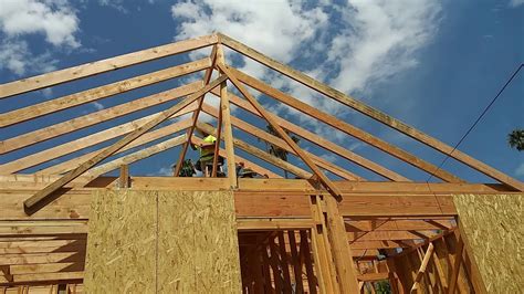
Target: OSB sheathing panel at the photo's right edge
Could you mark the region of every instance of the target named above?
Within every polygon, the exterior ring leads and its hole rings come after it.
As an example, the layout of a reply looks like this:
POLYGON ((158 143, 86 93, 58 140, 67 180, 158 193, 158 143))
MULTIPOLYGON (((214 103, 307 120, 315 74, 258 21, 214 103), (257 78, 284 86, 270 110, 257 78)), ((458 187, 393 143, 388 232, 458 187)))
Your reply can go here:
POLYGON ((521 293, 524 195, 458 195, 460 221, 488 293, 521 293))

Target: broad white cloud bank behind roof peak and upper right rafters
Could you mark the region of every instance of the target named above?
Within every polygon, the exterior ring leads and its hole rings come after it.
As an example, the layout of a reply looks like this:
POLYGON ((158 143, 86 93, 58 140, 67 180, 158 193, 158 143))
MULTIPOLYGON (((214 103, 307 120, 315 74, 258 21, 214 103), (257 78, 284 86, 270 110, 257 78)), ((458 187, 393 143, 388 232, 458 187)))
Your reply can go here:
MULTIPOLYGON (((417 51, 436 34, 441 7, 431 0, 321 1, 314 7, 294 0, 189 0, 174 4, 176 39, 220 31, 258 51, 347 94, 367 92, 381 81, 417 66, 417 51)), ((238 60, 231 59, 228 60, 238 60)), ((262 78, 310 105, 344 118, 348 107, 325 98, 260 64, 242 59, 240 70, 262 78)), ((286 106, 272 107, 318 134, 342 140, 340 133, 286 106)), ((359 147, 359 146, 358 146, 359 147)))

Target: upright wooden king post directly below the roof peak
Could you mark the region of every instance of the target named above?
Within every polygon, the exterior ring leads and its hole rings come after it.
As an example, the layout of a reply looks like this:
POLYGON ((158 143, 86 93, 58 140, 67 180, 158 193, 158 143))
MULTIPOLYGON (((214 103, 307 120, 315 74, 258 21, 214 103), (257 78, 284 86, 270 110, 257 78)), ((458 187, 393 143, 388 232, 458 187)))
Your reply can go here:
MULTIPOLYGON (((217 65, 223 66, 226 59, 221 45, 217 45, 217 65)), ((220 71, 223 74, 223 71, 220 71)), ((238 185, 237 179, 237 167, 234 165, 234 147, 233 147, 233 129, 231 126, 231 112, 228 97, 228 84, 224 81, 220 84, 220 111, 222 113, 222 125, 223 125, 223 140, 226 144, 226 154, 228 160, 228 179, 231 188, 235 189, 238 185)), ((220 140, 219 140, 220 143, 220 140)))

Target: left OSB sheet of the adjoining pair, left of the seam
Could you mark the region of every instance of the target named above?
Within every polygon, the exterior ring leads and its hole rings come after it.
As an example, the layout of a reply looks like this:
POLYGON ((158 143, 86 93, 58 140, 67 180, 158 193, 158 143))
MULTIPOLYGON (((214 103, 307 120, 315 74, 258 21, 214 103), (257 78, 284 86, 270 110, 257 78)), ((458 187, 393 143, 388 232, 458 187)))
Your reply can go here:
POLYGON ((155 293, 155 191, 93 195, 85 287, 88 293, 155 293))

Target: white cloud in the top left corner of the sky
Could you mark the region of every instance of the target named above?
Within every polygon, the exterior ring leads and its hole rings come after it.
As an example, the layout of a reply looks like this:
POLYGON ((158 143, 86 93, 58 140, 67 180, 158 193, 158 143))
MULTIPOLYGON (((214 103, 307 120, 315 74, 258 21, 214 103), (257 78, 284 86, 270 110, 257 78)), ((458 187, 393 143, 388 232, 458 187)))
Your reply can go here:
POLYGON ((76 12, 67 0, 0 0, 0 69, 14 74, 55 69, 56 60, 46 51, 34 54, 24 36, 41 34, 55 49, 77 49, 81 43, 76 12))

